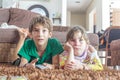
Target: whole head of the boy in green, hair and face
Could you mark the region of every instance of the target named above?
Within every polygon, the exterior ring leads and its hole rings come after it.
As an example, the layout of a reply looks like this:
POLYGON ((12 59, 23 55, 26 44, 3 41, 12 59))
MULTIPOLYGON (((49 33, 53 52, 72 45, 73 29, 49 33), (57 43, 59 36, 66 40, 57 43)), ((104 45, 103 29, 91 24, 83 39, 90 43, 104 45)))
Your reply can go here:
POLYGON ((29 32, 37 46, 46 46, 52 36, 52 23, 45 16, 37 16, 31 21, 29 32))

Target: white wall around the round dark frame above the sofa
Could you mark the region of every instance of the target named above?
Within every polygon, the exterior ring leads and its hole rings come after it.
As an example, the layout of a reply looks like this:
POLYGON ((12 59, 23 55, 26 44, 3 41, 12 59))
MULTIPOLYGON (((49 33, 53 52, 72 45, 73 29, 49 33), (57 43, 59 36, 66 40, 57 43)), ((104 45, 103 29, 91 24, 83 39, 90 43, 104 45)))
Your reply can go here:
MULTIPOLYGON (((54 14, 62 13, 62 1, 61 0, 50 0, 50 1, 39 1, 39 0, 20 0, 19 8, 28 9, 31 5, 40 4, 47 8, 49 12, 49 18, 52 20, 54 14)), ((58 22, 54 25, 60 25, 58 22)))

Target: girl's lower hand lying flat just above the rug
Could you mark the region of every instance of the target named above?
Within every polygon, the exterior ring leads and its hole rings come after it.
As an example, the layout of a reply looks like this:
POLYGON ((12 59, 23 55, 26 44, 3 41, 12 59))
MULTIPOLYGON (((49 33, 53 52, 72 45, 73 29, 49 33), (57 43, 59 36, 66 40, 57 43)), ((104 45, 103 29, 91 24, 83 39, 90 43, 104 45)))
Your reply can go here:
POLYGON ((69 64, 66 64, 64 69, 69 69, 69 70, 84 69, 84 66, 82 65, 82 63, 71 62, 69 64))

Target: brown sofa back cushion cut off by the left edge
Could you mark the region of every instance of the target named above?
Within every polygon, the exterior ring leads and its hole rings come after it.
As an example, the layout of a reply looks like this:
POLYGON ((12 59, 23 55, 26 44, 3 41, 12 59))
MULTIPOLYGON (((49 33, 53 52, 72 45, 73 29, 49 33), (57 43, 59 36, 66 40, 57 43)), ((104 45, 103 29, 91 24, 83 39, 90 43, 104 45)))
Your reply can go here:
POLYGON ((8 20, 9 20, 9 9, 1 8, 0 9, 0 25, 4 22, 7 23, 8 20))

